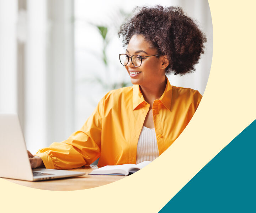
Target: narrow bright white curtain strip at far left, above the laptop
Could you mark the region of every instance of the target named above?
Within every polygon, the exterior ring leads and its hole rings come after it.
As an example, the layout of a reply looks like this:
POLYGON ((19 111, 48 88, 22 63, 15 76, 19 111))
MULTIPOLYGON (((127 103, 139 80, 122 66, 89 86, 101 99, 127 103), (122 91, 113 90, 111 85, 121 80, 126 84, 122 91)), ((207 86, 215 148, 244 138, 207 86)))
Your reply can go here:
POLYGON ((17 2, 0 1, 0 112, 17 109, 17 2))

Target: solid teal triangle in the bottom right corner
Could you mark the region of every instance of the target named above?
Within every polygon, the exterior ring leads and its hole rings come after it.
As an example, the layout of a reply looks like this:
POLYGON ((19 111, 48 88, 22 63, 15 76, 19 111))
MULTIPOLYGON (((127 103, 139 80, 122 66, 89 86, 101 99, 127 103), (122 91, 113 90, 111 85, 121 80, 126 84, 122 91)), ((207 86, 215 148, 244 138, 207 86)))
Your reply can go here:
POLYGON ((159 211, 165 212, 256 213, 256 120, 159 211))

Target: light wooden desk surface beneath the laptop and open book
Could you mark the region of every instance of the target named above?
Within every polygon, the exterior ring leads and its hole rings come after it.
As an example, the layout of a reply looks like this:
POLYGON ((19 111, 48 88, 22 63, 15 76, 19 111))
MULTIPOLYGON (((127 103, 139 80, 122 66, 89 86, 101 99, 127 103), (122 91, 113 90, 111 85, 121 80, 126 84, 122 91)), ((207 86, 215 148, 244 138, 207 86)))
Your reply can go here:
POLYGON ((81 190, 90 189, 97 186, 110 184, 114 181, 125 178, 123 175, 88 175, 92 170, 97 169, 97 166, 83 166, 78 169, 69 169, 71 171, 85 172, 86 175, 77 176, 74 178, 62 178, 55 180, 44 180, 44 181, 25 181, 7 179, 5 180, 14 182, 19 185, 28 186, 36 189, 44 190, 55 190, 55 191, 70 191, 70 190, 81 190))

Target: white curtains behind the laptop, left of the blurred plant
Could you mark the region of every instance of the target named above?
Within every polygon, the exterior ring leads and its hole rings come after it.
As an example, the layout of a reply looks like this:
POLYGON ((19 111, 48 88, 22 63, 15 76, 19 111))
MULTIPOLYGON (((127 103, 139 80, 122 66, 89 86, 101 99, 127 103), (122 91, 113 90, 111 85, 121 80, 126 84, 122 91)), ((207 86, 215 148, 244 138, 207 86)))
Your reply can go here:
POLYGON ((74 131, 72 0, 0 1, 0 112, 35 153, 74 131))

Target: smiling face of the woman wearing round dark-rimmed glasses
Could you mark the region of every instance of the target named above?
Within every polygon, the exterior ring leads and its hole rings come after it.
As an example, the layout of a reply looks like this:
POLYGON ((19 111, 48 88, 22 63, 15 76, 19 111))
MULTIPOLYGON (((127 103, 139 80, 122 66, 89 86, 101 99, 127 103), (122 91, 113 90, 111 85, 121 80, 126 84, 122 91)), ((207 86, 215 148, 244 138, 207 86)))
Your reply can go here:
MULTIPOLYGON (((143 35, 133 35, 128 44, 126 54, 129 56, 140 55, 150 56, 158 55, 156 48, 150 48, 151 45, 147 42, 143 35)), ((131 58, 129 58, 128 64, 125 66, 131 82, 133 84, 139 84, 141 86, 150 86, 158 84, 165 80, 165 69, 163 56, 152 56, 142 59, 142 64, 139 67, 135 67, 132 64, 131 58), (135 74, 135 72, 139 72, 135 74)))

